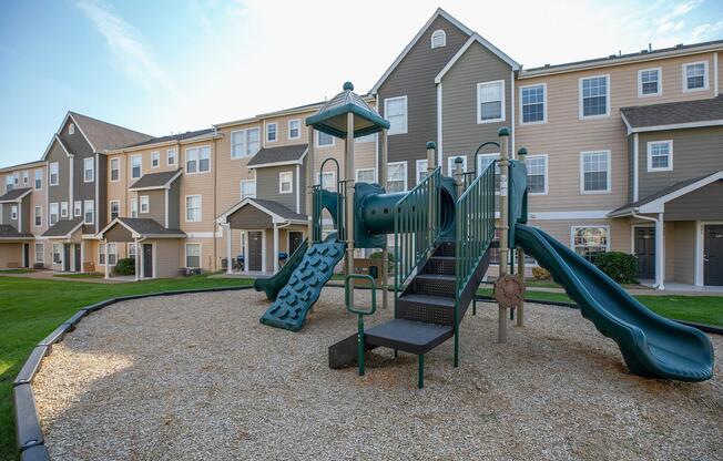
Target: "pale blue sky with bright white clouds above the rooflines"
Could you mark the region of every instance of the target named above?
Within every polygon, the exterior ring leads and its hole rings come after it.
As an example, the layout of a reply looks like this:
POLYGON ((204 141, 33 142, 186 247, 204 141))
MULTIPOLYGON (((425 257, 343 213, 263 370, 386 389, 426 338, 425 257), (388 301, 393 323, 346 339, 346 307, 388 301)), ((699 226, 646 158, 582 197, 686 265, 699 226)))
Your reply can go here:
POLYGON ((68 110, 164 135, 366 92, 437 7, 527 68, 723 39, 721 0, 12 1, 0 166, 39 158, 68 110))

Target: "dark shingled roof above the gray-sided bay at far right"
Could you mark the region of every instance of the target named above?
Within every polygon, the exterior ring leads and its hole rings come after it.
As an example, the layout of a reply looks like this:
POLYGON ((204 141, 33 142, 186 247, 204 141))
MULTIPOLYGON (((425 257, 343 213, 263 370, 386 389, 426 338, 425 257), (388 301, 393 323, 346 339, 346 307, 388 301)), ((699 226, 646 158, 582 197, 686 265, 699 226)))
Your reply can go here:
POLYGON ((628 134, 723 125, 723 96, 622 107, 620 113, 628 134))

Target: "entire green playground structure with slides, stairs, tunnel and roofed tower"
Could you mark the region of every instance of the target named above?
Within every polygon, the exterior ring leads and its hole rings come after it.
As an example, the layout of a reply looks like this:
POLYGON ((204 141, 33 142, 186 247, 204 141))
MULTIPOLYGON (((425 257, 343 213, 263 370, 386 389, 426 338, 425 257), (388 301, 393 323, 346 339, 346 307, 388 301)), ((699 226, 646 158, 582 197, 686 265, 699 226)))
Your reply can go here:
MULTIPOLYGON (((517 326, 525 326, 525 254, 552 274, 578 304, 582 316, 613 339, 631 372, 649 378, 682 381, 710 379, 713 348, 700 330, 665 319, 640 304, 590 262, 542 230, 527 225, 527 168, 525 148, 509 158, 509 131, 499 131, 500 158, 470 176, 456 164, 456 178, 445 177, 437 165, 436 145, 427 144, 428 173, 411 191, 386 193, 378 184, 354 183, 354 139, 379 133, 380 171, 386 177, 389 123, 353 92, 350 83, 307 119, 307 184, 314 184, 314 132, 345 140, 344 175, 337 191, 310 186, 310 242, 292 255, 274 277, 257 281, 274 304, 262 324, 297 331, 334 267, 345 258, 346 308, 357 315, 357 332, 329 347, 329 367, 358 363, 377 347, 418 356, 418 387, 424 387, 425 354, 454 338, 454 365, 459 365, 459 325, 482 281, 499 230, 499 277, 495 297, 499 306, 498 341, 507 341, 508 309, 517 310, 517 326), (499 174, 496 173, 499 167, 499 174), (499 192, 497 188, 499 187, 499 192), (332 215, 335 233, 322 235, 322 212, 332 215), (497 216, 499 211, 499 217, 497 216), (394 234, 394 319, 365 328, 364 317, 376 310, 373 277, 354 274, 355 248, 380 248, 387 275, 387 236, 394 234), (517 275, 511 253, 517 250, 517 275), (299 253, 301 252, 301 253, 299 253), (371 309, 354 303, 354 283, 371 286, 371 309)), ((486 143, 487 144, 487 143, 486 143)), ((480 148, 485 144, 480 145, 480 148)), ((479 152, 479 148, 478 148, 479 152)), ((477 154, 476 154, 477 155, 477 154)), ((475 158, 476 160, 476 158, 475 158)), ((326 165, 324 162, 320 171, 326 165)), ((342 173, 338 163, 337 173, 342 173)), ((477 162, 473 162, 477 165, 477 162)), ((387 284, 381 305, 388 307, 387 284)), ((511 310, 510 310, 511 314, 511 310)))

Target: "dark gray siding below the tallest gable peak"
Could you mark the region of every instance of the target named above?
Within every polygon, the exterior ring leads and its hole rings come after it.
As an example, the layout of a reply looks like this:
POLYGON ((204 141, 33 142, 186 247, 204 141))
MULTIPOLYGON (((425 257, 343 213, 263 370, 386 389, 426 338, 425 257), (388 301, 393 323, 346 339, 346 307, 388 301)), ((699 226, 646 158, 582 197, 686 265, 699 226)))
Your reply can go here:
POLYGON ((438 17, 409 50, 378 90, 379 113, 384 100, 407 96, 407 133, 388 139, 389 162, 407 161, 408 184, 415 184, 415 161, 425 158, 427 141, 437 141, 437 88, 435 76, 469 37, 455 24, 438 17), (431 34, 441 29, 447 45, 431 49, 431 34))

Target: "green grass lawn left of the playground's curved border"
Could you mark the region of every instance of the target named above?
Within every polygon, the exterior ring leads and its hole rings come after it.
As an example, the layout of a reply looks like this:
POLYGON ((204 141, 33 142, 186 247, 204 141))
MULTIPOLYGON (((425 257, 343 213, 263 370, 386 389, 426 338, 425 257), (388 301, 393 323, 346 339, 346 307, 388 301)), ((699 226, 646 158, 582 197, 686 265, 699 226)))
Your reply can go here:
POLYGON ((17 459, 12 380, 34 345, 78 309, 123 295, 252 284, 207 275, 113 285, 0 276, 0 460, 17 459))

